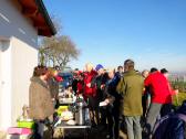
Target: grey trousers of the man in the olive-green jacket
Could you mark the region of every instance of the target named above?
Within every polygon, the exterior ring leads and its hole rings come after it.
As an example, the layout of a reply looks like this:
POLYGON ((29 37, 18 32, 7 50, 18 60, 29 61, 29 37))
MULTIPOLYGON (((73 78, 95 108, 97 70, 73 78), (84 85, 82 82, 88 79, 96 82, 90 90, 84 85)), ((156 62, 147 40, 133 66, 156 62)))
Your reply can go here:
POLYGON ((142 139, 141 116, 125 116, 128 139, 142 139))

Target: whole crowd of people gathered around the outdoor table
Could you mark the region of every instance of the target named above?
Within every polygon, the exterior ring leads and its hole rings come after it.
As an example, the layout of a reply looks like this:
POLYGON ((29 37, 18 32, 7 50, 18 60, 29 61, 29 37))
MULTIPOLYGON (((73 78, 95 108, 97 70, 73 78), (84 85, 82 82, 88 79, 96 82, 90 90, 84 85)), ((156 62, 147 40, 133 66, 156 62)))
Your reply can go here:
MULTIPOLYGON (((73 72, 72 89, 82 95, 90 109, 93 128, 102 127, 107 138, 118 139, 124 120, 128 139, 142 139, 142 132, 152 138, 155 122, 173 111, 173 95, 168 71, 153 67, 142 73, 135 63, 126 60, 117 70, 105 70, 102 64, 85 64, 85 71, 73 72)), ((37 139, 43 137, 45 119, 53 117, 58 101, 58 70, 37 66, 30 85, 30 117, 37 121, 37 139)))

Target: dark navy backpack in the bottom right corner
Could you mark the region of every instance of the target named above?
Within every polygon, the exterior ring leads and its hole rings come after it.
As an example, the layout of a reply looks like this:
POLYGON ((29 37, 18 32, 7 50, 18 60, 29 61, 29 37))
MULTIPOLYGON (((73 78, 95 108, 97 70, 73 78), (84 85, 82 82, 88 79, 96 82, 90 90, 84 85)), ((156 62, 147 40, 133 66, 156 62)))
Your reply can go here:
POLYGON ((169 114, 154 127, 153 139, 186 139, 186 115, 169 114))

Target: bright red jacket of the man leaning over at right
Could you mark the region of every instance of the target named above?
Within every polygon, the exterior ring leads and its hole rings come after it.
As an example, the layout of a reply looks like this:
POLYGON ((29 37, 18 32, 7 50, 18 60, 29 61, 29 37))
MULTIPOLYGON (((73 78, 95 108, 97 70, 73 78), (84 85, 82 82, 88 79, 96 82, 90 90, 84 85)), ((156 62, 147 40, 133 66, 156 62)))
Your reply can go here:
POLYGON ((152 103, 172 104, 174 92, 170 88, 168 79, 162 73, 155 72, 149 74, 144 84, 146 87, 149 87, 152 103))

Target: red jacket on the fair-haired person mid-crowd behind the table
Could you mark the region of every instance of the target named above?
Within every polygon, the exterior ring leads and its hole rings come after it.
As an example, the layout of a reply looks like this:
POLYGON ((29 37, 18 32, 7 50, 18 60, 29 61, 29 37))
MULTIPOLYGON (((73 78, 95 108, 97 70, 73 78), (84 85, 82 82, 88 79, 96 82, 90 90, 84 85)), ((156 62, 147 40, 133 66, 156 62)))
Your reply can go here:
POLYGON ((84 77, 84 95, 92 95, 95 96, 96 95, 96 88, 95 85, 92 84, 92 81, 95 78, 96 76, 96 72, 95 71, 91 71, 90 73, 85 74, 84 77), (91 86, 89 87, 87 84, 91 84, 91 86))

